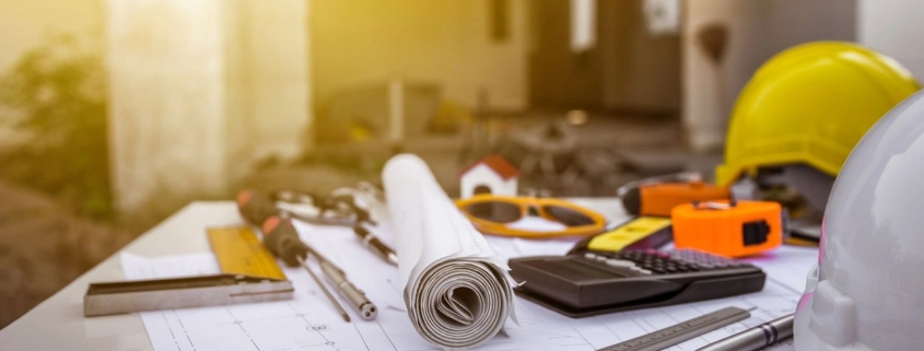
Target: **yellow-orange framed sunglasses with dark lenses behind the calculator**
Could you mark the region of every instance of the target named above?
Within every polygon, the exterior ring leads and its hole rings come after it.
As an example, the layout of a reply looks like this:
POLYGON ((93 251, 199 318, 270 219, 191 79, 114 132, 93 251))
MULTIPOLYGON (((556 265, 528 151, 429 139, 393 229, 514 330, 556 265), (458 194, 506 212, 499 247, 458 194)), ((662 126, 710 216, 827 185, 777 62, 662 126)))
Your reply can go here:
POLYGON ((564 200, 531 197, 476 195, 456 200, 479 232, 502 236, 546 238, 587 236, 604 232, 606 219, 564 200), (529 223, 529 219, 543 223, 529 223))

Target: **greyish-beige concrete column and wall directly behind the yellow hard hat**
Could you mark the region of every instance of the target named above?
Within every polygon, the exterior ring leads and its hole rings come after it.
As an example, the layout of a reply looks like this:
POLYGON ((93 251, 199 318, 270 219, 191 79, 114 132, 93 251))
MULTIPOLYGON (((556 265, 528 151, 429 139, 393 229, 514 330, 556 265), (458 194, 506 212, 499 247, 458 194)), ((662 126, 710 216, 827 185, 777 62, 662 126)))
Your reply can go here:
POLYGON ((773 55, 814 40, 854 40, 856 2, 845 0, 687 0, 682 39, 682 120, 694 150, 721 149, 738 92, 773 55), (721 23, 728 43, 721 66, 697 33, 721 23))

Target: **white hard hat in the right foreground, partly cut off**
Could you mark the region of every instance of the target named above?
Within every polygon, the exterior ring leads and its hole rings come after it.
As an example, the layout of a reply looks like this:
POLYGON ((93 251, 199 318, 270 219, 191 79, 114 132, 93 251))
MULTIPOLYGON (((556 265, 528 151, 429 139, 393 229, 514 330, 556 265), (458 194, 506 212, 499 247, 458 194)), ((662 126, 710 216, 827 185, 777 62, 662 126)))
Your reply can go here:
POLYGON ((824 211, 796 350, 924 350, 924 93, 851 153, 824 211))

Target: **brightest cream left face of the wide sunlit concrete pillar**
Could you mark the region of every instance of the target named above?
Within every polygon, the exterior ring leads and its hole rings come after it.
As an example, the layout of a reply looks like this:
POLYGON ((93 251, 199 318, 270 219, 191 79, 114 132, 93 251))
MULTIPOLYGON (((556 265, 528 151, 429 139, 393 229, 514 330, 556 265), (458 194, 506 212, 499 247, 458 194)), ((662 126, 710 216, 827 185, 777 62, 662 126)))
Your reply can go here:
POLYGON ((225 166, 222 0, 108 0, 109 136, 116 207, 221 194, 225 166))

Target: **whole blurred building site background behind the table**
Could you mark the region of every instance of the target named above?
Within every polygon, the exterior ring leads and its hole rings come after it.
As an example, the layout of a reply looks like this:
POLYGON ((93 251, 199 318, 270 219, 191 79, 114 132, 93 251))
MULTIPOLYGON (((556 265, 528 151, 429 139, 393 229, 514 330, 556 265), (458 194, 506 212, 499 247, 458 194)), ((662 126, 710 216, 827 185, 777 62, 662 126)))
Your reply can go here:
POLYGON ((902 0, 0 0, 0 327, 189 201, 377 183, 399 151, 451 196, 490 153, 554 196, 709 173, 763 61, 849 40, 924 77, 921 13, 902 0))

